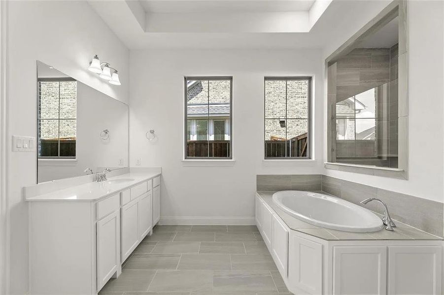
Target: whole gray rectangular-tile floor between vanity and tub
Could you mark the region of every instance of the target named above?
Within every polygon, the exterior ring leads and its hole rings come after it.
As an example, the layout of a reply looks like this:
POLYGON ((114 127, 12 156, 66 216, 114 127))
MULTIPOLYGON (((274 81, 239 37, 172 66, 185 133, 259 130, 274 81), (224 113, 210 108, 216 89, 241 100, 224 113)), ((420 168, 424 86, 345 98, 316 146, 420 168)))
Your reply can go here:
POLYGON ((161 225, 99 295, 288 295, 256 226, 161 225))

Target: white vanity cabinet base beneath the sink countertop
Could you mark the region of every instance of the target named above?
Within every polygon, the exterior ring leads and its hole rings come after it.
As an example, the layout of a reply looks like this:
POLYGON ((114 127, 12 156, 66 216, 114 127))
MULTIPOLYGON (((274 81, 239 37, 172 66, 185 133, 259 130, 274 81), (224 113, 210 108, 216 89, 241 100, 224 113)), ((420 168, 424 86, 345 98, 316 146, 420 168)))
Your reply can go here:
POLYGON ((152 179, 94 200, 30 202, 30 294, 97 295, 152 233, 153 203, 152 179))

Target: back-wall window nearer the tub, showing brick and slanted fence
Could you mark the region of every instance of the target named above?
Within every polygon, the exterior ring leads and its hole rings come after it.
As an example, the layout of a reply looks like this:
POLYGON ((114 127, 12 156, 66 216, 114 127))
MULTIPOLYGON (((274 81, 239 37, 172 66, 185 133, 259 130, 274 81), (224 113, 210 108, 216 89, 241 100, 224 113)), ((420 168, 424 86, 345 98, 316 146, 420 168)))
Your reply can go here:
POLYGON ((310 158, 310 77, 265 78, 265 158, 310 158))

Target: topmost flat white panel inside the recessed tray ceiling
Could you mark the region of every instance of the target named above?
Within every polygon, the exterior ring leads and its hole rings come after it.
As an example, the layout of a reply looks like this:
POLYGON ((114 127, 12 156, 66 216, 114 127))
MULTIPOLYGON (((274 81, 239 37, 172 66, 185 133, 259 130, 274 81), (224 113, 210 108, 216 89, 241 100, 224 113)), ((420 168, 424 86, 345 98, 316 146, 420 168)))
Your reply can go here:
POLYGON ((308 11, 314 0, 139 0, 147 13, 308 11))

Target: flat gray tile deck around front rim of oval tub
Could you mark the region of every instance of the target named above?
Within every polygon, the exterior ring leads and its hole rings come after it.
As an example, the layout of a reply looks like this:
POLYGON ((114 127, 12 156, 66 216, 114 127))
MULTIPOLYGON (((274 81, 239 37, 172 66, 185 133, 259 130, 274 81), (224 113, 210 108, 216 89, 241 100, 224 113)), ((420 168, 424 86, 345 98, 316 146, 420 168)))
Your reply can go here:
POLYGON ((310 236, 315 236, 325 240, 442 240, 439 236, 433 236, 407 224, 394 220, 397 227, 394 232, 385 229, 374 233, 349 233, 321 228, 293 217, 273 203, 274 192, 257 192, 257 196, 262 198, 285 222, 285 224, 294 231, 298 231, 310 236))

